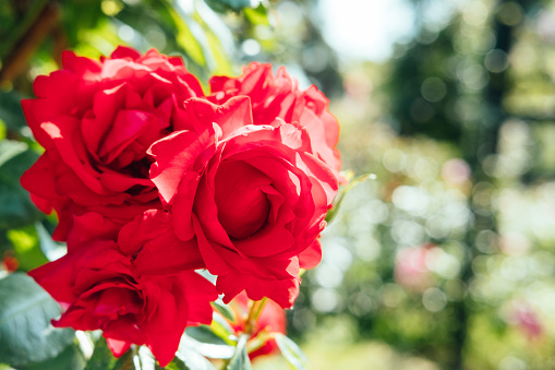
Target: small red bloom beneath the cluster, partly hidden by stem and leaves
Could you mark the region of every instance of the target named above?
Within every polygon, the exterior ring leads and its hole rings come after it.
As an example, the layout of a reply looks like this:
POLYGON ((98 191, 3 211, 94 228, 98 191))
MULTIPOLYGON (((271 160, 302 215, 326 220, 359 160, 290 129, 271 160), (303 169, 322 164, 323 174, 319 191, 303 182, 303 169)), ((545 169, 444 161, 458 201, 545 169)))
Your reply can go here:
MULTIPOLYGON (((238 322, 232 322, 231 326, 237 333, 243 332, 245 326, 245 320, 249 317, 249 298, 244 291, 240 293, 236 298, 229 302, 230 308, 236 312, 236 318, 239 318, 238 322)), ((256 341, 256 337, 262 332, 267 333, 281 333, 287 334, 287 320, 286 312, 279 305, 268 300, 262 308, 261 315, 256 321, 250 341, 256 341)), ((266 341, 266 343, 257 348, 256 350, 249 354, 251 360, 260 356, 270 355, 279 350, 277 343, 274 338, 266 341)))

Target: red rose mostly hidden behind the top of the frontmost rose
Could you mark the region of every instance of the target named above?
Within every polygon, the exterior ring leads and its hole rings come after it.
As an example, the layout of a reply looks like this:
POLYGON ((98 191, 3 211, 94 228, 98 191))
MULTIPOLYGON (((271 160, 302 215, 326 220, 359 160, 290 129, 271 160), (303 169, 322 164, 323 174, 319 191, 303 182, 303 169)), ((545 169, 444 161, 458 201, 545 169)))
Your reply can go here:
POLYGON ((327 109, 328 99, 314 85, 300 91, 283 67, 274 75, 272 64, 252 62, 239 77, 215 76, 210 79, 212 102, 222 104, 237 95, 251 98, 254 124, 276 124, 276 118, 298 122, 309 132, 313 151, 339 174, 341 160, 336 145, 339 124, 327 109))

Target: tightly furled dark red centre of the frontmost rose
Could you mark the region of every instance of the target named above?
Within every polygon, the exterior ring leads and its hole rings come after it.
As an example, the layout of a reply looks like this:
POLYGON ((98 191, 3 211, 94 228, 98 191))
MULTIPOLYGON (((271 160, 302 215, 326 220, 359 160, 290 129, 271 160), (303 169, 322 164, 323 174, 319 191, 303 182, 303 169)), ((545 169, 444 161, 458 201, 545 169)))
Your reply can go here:
POLYGON ((218 219, 229 236, 242 239, 265 224, 269 202, 263 189, 270 183, 267 176, 243 162, 220 164, 215 178, 215 199, 218 219))

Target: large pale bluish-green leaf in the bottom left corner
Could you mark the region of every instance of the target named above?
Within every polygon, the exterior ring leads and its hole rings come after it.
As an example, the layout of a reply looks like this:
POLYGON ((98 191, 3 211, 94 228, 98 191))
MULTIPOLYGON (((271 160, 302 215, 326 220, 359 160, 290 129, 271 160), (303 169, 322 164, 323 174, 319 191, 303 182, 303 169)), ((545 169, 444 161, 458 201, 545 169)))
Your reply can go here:
POLYGON ((14 273, 0 279, 0 362, 22 366, 58 356, 74 331, 55 329, 60 306, 33 278, 14 273))

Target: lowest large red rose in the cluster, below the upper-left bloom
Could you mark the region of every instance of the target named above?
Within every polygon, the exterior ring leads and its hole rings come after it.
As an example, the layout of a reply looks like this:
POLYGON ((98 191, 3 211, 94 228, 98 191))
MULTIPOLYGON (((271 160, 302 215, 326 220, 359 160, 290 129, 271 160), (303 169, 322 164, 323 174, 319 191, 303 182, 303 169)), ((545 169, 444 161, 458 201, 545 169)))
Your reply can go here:
POLYGON ((64 308, 55 326, 102 330, 116 356, 147 345, 161 366, 186 326, 212 322, 214 286, 192 271, 143 277, 112 241, 95 240, 29 273, 64 308))

